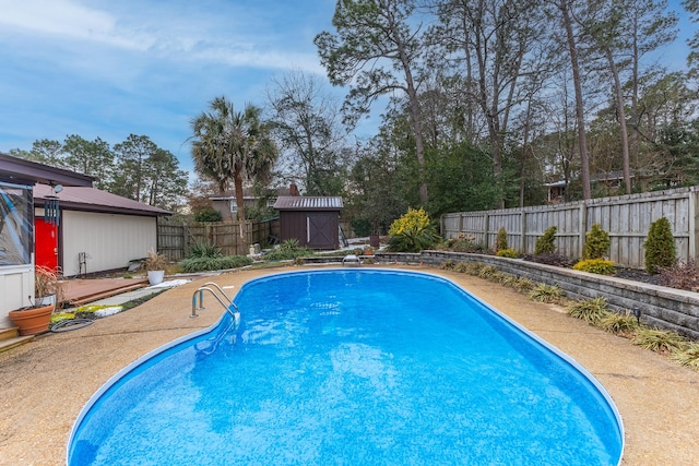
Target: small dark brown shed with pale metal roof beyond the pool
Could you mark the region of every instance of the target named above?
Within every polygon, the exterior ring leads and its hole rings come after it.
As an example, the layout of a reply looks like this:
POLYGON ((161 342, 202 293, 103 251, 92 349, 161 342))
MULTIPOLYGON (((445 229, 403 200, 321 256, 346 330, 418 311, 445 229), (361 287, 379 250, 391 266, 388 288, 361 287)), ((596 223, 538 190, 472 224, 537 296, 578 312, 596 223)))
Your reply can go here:
POLYGON ((296 238, 306 248, 339 249, 342 207, 340 196, 280 196, 274 208, 280 212, 281 240, 296 238))

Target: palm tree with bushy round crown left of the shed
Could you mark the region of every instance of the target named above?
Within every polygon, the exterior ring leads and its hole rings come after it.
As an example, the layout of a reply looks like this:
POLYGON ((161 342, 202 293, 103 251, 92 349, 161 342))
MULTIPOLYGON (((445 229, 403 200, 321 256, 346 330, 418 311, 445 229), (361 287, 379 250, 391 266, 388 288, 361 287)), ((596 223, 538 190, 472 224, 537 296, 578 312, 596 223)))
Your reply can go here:
POLYGON ((202 112, 191 122, 194 170, 214 180, 221 193, 230 181, 234 183, 244 248, 244 181, 266 182, 279 155, 268 126, 260 119, 261 112, 252 105, 236 112, 233 103, 222 96, 211 101, 209 112, 202 112))

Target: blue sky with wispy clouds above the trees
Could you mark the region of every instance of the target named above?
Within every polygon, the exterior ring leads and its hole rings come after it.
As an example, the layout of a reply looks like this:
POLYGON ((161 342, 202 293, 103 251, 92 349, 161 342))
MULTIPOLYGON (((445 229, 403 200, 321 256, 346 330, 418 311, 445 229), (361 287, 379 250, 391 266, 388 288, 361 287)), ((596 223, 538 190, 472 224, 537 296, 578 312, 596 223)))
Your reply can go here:
MULTIPOLYGON (((682 11, 679 0, 671 3, 682 11)), ((190 121, 214 97, 264 106, 274 76, 304 71, 325 79, 313 37, 332 31, 334 7, 335 0, 0 0, 0 152, 70 134, 114 146, 133 133, 191 171, 190 121)), ((662 61, 682 69, 684 38, 695 29, 685 15, 683 38, 659 53, 662 61)))

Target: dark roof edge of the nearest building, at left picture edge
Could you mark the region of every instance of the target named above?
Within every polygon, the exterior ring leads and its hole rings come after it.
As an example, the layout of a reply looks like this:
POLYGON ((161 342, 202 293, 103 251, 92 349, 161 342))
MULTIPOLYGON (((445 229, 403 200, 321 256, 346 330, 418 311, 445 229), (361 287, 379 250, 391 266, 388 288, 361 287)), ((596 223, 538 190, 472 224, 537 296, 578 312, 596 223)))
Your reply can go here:
POLYGON ((92 187, 94 177, 0 153, 0 178, 8 182, 92 187))

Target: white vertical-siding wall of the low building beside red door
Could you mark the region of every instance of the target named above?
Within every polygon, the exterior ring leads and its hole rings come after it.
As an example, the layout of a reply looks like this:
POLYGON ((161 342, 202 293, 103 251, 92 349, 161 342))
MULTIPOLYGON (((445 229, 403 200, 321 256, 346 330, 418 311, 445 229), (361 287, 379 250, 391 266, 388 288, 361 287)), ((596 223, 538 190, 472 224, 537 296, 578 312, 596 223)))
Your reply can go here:
POLYGON ((87 253, 87 273, 123 268, 157 247, 155 217, 63 211, 62 260, 66 276, 78 275, 79 254, 87 253))

